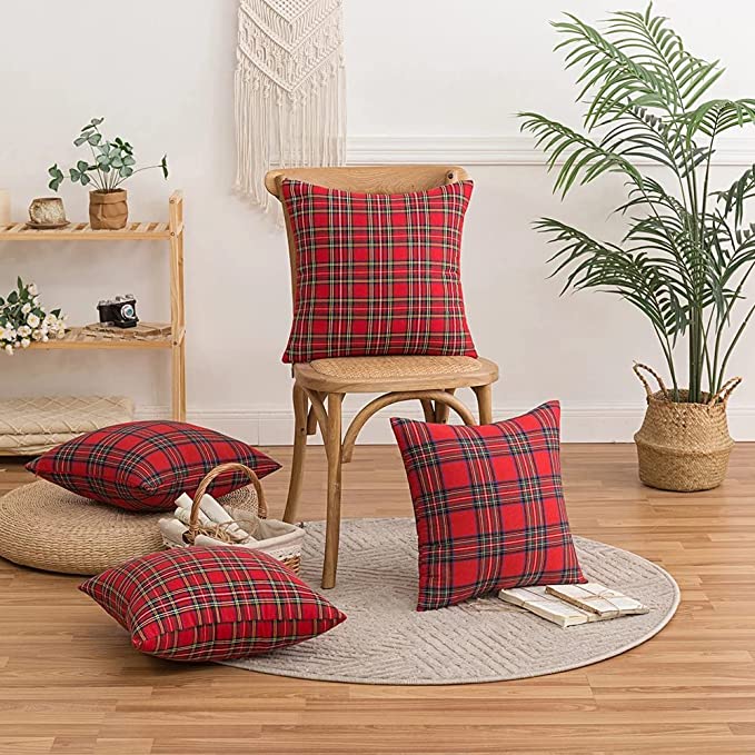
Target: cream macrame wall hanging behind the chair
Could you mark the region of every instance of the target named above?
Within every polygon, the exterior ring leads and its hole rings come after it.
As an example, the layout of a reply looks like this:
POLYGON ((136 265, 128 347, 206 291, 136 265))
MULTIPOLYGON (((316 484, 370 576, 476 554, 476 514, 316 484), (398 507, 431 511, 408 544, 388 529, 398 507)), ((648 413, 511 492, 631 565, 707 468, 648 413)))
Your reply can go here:
POLYGON ((236 188, 267 210, 270 168, 344 162, 341 0, 240 3, 236 188))

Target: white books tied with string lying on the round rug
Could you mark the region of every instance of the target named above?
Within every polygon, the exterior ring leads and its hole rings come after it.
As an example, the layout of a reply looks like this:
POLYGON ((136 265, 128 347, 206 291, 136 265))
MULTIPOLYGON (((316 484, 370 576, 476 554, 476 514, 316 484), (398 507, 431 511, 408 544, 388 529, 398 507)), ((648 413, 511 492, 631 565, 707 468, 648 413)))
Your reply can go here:
POLYGON ((562 627, 647 614, 649 608, 597 582, 501 589, 498 597, 562 627))

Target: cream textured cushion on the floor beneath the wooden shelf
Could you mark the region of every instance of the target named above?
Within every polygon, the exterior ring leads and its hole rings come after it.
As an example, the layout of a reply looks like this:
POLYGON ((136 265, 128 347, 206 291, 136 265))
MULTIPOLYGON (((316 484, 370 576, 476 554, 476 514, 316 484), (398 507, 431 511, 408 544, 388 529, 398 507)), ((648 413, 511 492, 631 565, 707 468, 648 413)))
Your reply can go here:
POLYGON ((82 433, 133 419, 125 396, 36 396, 0 401, 0 455, 33 456, 82 433))

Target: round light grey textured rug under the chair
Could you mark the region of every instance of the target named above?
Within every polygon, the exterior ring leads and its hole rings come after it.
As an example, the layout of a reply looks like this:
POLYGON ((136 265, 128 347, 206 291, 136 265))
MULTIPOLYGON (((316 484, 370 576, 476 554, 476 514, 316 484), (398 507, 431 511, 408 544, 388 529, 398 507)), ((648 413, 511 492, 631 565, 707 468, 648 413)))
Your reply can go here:
MULTIPOLYGON (((325 526, 307 524, 301 577, 319 590, 325 526)), ((659 566, 575 537, 585 576, 648 614, 564 629, 497 597, 418 613, 414 519, 341 524, 338 585, 320 590, 348 619, 320 637, 228 665, 360 684, 470 684, 555 674, 636 647, 672 618, 679 589, 659 566)))

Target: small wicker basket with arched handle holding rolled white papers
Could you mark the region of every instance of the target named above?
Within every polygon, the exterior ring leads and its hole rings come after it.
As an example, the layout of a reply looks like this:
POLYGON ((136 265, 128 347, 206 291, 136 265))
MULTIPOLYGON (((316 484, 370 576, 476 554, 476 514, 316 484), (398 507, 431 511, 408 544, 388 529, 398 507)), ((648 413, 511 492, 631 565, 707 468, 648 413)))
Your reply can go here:
POLYGON ((261 550, 277 558, 295 574, 301 566, 301 545, 305 530, 296 525, 277 519, 267 519, 267 503, 259 478, 252 469, 242 464, 221 464, 212 469, 197 488, 191 505, 189 525, 181 525, 177 519, 160 521, 162 542, 169 548, 189 545, 225 546, 261 550), (242 471, 251 481, 259 500, 258 514, 239 508, 228 508, 235 524, 255 538, 252 543, 237 543, 229 528, 223 525, 206 525, 200 523, 200 503, 208 487, 220 475, 227 471, 242 471))

